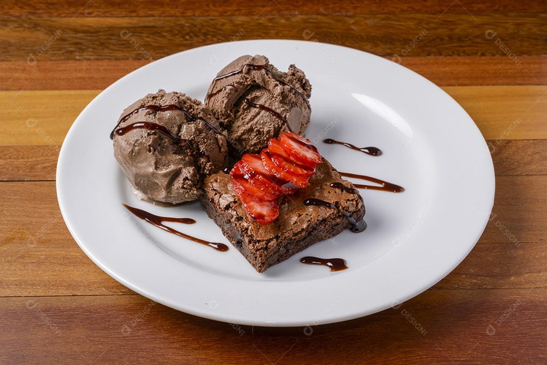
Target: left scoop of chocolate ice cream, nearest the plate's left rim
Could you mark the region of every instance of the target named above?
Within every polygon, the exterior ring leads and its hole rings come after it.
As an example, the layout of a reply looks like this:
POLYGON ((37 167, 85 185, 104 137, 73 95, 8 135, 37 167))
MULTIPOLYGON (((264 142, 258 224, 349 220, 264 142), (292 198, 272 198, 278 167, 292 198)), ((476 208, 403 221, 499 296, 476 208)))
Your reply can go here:
POLYGON ((222 169, 228 147, 205 105, 159 90, 127 107, 113 131, 114 157, 133 189, 155 201, 197 199, 205 175, 222 169))

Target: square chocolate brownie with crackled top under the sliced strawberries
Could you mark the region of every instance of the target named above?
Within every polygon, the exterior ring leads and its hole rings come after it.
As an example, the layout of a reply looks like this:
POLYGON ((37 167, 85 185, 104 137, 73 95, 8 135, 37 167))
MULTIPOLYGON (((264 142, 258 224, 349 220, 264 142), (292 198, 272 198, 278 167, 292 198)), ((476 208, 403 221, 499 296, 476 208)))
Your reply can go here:
POLYGON ((312 244, 351 228, 350 220, 363 218, 365 207, 359 193, 331 187, 332 182, 354 189, 323 158, 305 189, 278 198, 280 215, 267 225, 259 225, 246 213, 232 188, 230 175, 224 172, 205 178, 201 205, 230 243, 262 273, 312 244), (308 198, 321 199, 336 208, 305 205, 308 198))

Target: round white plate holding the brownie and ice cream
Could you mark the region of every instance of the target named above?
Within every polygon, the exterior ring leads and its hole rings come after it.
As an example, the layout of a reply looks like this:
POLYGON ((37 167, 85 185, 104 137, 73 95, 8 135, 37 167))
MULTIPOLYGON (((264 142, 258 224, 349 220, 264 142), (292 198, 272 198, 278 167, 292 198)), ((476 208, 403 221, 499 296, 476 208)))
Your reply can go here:
POLYGON ((307 326, 349 320, 406 301, 457 266, 490 216, 494 171, 479 129, 443 90, 366 52, 294 40, 209 45, 162 58, 109 86, 78 116, 57 164, 62 215, 80 248, 99 267, 154 301, 214 320, 259 326, 307 326), (244 54, 263 54, 281 70, 305 70, 313 85, 306 137, 346 172, 405 187, 362 190, 368 228, 316 243, 258 274, 230 245, 218 252, 130 215, 126 203, 165 216, 173 226, 228 243, 198 203, 173 208, 138 201, 114 160, 108 135, 121 111, 158 89, 203 99, 218 70, 244 54), (377 146, 372 157, 340 145, 377 146), (349 269, 299 262, 342 257, 349 269))

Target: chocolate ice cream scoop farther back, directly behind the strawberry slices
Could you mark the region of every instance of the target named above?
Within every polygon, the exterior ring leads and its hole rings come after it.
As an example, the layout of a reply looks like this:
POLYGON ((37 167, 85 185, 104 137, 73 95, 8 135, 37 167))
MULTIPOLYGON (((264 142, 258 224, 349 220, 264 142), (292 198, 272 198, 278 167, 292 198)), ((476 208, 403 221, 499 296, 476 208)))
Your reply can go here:
POLYGON ((205 104, 228 132, 232 152, 257 153, 282 131, 304 134, 310 123, 310 81, 301 69, 275 68, 265 56, 241 56, 213 80, 205 104))

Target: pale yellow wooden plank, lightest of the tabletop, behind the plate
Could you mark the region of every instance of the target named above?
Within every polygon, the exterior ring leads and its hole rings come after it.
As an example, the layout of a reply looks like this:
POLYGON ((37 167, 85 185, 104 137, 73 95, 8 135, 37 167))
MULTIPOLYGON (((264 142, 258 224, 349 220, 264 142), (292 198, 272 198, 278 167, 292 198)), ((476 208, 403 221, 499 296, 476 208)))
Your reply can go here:
MULTIPOLYGON (((547 139, 545 86, 446 86, 486 139, 547 139)), ((2 91, 0 145, 60 144, 97 90, 2 91)), ((312 100, 313 104, 313 100, 312 100)), ((120 107, 120 113, 123 106, 120 107)))

